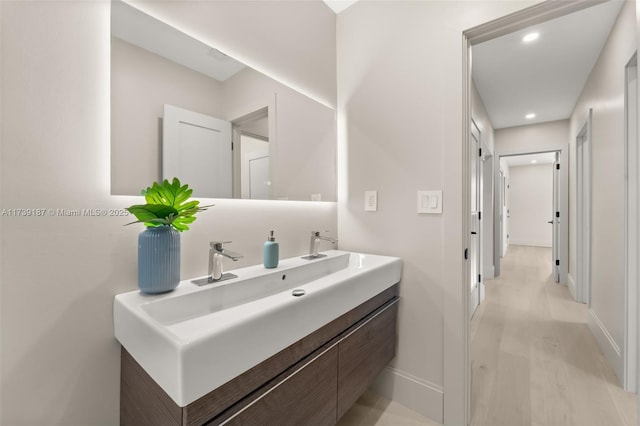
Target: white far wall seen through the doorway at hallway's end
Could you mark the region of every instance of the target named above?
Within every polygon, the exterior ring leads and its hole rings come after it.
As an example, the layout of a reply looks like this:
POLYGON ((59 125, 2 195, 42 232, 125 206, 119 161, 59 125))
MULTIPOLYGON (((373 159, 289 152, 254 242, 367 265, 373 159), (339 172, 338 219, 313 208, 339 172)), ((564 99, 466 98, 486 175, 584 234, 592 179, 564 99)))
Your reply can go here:
POLYGON ((509 167, 510 243, 551 247, 553 164, 509 167))

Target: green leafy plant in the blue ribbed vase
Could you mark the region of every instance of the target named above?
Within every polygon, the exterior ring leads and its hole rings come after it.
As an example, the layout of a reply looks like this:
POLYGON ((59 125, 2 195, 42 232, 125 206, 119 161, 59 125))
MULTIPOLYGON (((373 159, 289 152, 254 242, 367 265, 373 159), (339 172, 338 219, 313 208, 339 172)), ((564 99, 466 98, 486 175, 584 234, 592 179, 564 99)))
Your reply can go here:
POLYGON ((178 178, 173 178, 171 183, 167 179, 162 183, 154 182, 142 190, 147 204, 135 204, 127 208, 138 219, 127 225, 144 223, 147 227, 173 226, 180 232, 186 231, 196 220, 196 213, 213 206, 200 207, 200 201, 189 200, 192 193, 193 189, 189 185, 182 185, 178 178))

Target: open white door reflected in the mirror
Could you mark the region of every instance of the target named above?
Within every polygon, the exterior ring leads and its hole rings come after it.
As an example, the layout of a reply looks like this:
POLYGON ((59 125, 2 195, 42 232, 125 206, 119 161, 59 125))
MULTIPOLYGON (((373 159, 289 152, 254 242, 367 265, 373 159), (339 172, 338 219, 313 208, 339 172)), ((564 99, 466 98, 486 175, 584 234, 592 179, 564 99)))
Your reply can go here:
POLYGON ((189 184, 194 197, 231 198, 231 123, 164 106, 162 177, 189 184))

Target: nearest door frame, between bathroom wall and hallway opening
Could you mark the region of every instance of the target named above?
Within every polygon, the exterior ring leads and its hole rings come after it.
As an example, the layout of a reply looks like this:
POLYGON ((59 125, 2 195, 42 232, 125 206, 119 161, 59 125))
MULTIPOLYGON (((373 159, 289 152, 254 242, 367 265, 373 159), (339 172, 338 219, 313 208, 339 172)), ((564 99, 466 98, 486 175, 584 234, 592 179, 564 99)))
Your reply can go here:
MULTIPOLYGON (((579 10, 595 6, 606 0, 586 2, 581 0, 545 1, 535 4, 518 12, 503 16, 484 24, 469 28, 462 32, 462 214, 460 226, 462 229, 462 247, 469 247, 469 217, 470 217, 470 177, 466 161, 469 158, 469 135, 471 119, 471 47, 505 34, 512 33, 551 19, 558 18, 579 10)), ((444 398, 444 421, 447 425, 468 425, 471 420, 471 358, 469 355, 469 262, 463 263, 464 271, 459 282, 459 295, 464 309, 457 310, 457 315, 445 317, 450 320, 455 338, 445 339, 444 387, 447 395, 444 398), (452 354, 447 361, 447 354, 452 354), (460 355, 456 355, 460 354, 460 355), (455 355, 455 356, 453 356, 455 355)))

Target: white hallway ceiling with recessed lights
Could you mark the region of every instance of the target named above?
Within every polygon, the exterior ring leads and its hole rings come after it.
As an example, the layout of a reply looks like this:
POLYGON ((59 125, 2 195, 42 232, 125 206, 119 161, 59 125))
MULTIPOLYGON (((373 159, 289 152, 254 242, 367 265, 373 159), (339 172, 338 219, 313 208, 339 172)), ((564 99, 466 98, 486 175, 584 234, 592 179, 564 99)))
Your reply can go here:
POLYGON ((473 46, 473 80, 494 129, 569 118, 622 4, 610 0, 473 46), (538 39, 523 42, 533 31, 538 39))

